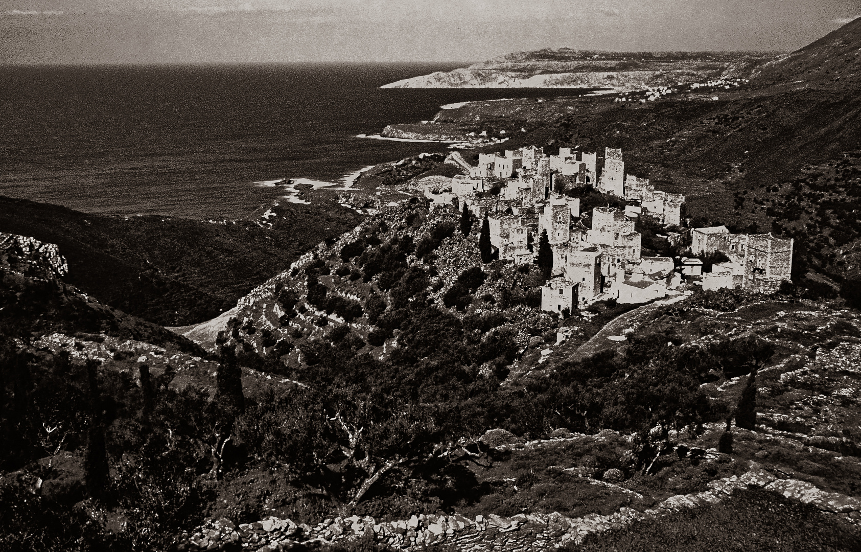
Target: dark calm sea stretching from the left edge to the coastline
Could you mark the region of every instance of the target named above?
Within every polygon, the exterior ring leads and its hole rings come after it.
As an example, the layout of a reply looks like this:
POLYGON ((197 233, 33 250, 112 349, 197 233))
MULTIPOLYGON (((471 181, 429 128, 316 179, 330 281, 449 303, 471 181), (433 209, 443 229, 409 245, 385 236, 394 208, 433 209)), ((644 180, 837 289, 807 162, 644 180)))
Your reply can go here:
POLYGON ((238 218, 262 181, 338 183, 444 145, 362 140, 439 106, 570 90, 380 90, 458 65, 0 66, 0 195, 93 213, 238 218))

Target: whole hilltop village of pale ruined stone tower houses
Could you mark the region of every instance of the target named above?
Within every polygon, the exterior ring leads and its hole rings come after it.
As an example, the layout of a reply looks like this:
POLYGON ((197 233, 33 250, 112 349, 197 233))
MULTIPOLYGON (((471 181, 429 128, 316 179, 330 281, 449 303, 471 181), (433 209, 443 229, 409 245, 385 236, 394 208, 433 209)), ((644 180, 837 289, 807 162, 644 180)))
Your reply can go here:
POLYGON ((773 292, 790 280, 792 239, 771 233, 733 234, 726 226, 684 228, 684 195, 655 189, 647 178, 625 173, 621 149, 598 154, 561 147, 558 155, 526 146, 505 155, 480 153, 473 165, 455 152, 446 159, 468 174, 419 181, 432 207, 463 205, 490 229, 500 260, 533 264, 538 245, 552 250, 542 309, 572 312, 595 301, 641 303, 696 283, 703 289, 745 288, 773 292), (595 189, 623 200, 624 207, 580 212, 578 190, 595 189), (567 193, 566 193, 567 192, 567 193), (664 226, 672 245, 691 240, 691 257, 643 257, 638 217, 664 226), (719 252, 721 255, 717 255, 719 252), (703 274, 698 257, 719 257, 703 274))

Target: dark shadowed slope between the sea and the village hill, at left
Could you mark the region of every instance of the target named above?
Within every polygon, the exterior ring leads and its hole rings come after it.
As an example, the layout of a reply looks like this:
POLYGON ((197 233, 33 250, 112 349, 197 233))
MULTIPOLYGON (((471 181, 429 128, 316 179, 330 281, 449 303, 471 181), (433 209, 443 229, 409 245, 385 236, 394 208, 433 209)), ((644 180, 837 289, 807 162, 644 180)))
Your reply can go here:
POLYGON ((231 308, 320 240, 362 218, 333 202, 286 204, 276 212, 269 228, 252 221, 222 225, 85 214, 0 197, 0 232, 59 245, 69 262, 65 282, 99 301, 164 326, 182 326, 231 308))

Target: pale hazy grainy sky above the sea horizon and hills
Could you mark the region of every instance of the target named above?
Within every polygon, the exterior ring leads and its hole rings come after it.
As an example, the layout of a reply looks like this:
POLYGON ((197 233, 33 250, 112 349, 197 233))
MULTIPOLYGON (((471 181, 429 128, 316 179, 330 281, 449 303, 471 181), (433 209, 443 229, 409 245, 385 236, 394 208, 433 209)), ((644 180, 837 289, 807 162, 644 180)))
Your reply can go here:
POLYGON ((861 0, 0 0, 0 63, 793 50, 859 15, 861 0))

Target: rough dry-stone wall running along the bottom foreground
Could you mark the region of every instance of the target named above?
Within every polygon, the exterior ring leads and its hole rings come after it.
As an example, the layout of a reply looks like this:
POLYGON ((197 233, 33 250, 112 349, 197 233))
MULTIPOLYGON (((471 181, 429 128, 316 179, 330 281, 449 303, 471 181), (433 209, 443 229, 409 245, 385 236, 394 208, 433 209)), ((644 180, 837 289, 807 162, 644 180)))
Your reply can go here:
POLYGON ((179 548, 187 550, 228 549, 240 546, 257 552, 290 549, 296 544, 332 544, 366 538, 404 550, 419 550, 439 544, 455 550, 554 550, 562 544, 581 543, 592 533, 621 529, 637 520, 656 518, 684 509, 714 505, 735 490, 765 488, 814 505, 822 512, 840 515, 861 523, 861 500, 839 493, 826 493, 806 481, 777 479, 753 464, 746 474, 709 483, 703 493, 678 494, 645 512, 623 507, 609 516, 589 514, 567 518, 560 513, 518 514, 503 518, 496 514, 412 516, 406 520, 377 522, 374 518, 327 518, 313 527, 294 524, 289 519, 269 517, 254 524, 232 524, 229 520, 208 520, 191 533, 183 533, 179 548))

